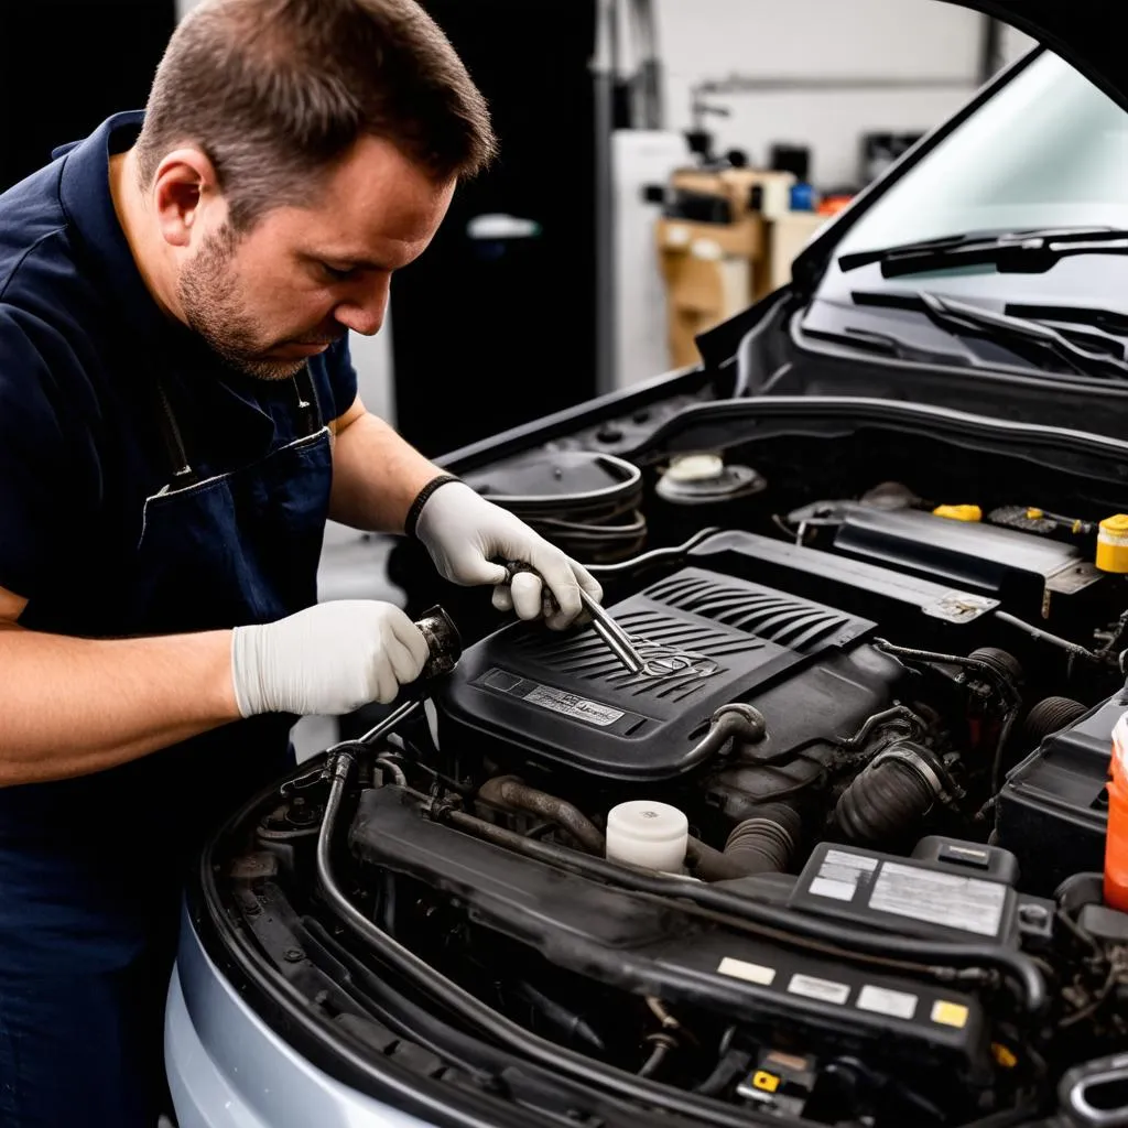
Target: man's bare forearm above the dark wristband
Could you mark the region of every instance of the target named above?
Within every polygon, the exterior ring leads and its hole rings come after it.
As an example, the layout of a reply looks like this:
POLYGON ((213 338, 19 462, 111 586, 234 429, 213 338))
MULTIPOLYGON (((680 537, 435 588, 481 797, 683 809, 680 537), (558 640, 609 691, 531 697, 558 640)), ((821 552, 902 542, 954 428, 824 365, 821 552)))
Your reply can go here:
POLYGON ((412 502, 439 473, 387 423, 364 412, 337 432, 329 515, 354 529, 402 532, 412 502))

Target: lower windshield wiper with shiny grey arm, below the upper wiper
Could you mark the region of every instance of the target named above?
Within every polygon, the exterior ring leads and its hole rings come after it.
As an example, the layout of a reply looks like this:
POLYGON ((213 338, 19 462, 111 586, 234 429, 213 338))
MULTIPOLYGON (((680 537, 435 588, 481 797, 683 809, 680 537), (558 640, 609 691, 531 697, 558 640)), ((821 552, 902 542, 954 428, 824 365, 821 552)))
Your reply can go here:
MULTIPOLYGON (((979 336, 1012 349, 1020 355, 1030 356, 1033 352, 1045 358, 1048 353, 1081 376, 1128 379, 1128 359, 1123 351, 1119 356, 1105 351, 1093 352, 1038 321, 997 314, 981 306, 972 306, 954 298, 941 298, 925 290, 910 293, 870 293, 860 290, 854 292, 853 299, 858 306, 915 309, 949 333, 979 336)), ((1037 358, 1031 359, 1037 361, 1037 358)))

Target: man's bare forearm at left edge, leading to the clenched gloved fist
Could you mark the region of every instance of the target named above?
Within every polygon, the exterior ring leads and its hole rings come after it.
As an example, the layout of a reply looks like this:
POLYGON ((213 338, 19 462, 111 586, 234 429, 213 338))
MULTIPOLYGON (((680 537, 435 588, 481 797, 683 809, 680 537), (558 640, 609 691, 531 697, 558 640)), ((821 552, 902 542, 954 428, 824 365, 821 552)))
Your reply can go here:
POLYGON ((231 634, 0 629, 0 786, 87 775, 238 720, 231 634))

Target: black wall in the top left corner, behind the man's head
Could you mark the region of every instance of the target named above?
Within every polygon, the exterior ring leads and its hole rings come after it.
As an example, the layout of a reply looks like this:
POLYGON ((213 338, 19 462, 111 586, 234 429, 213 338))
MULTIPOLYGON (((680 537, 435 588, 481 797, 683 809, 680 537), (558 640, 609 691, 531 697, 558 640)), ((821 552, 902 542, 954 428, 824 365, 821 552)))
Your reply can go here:
POLYGON ((143 106, 175 26, 174 0, 0 0, 0 191, 143 106))

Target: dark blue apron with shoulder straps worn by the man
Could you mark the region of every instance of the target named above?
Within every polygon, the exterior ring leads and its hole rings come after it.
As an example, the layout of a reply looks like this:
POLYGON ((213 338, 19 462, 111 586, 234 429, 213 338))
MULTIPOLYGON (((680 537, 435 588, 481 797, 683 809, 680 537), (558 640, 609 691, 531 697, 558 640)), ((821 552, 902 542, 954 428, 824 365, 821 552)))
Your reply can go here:
MULTIPOLYGON (((316 601, 331 438, 308 370, 293 388, 297 438, 206 477, 161 390, 171 478, 144 503, 121 634, 266 623, 316 601)), ((285 769, 293 721, 0 790, 0 1128, 153 1128, 184 866, 285 769)))

